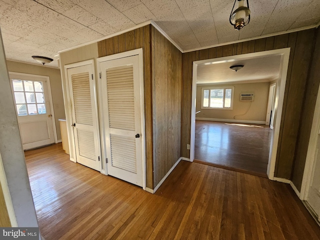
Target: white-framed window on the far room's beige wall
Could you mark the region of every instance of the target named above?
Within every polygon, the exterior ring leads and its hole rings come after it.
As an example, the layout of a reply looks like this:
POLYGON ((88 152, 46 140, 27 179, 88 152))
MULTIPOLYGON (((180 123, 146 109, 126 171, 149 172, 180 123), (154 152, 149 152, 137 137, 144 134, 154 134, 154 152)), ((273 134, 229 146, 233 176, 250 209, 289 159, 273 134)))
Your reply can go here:
POLYGON ((233 86, 202 87, 201 108, 232 109, 233 91, 233 86))

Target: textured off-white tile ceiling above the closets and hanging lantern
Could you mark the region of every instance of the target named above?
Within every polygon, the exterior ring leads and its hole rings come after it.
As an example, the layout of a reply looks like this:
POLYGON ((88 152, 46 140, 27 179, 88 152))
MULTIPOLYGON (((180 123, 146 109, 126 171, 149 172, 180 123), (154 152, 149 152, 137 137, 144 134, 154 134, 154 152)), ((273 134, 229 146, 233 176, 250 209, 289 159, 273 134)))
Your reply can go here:
MULTIPOLYGON (((317 26, 320 0, 249 0, 250 23, 236 31, 233 0, 0 0, 6 58, 35 63, 58 51, 153 20, 183 51, 317 26)), ((57 67, 57 61, 48 66, 57 67)))

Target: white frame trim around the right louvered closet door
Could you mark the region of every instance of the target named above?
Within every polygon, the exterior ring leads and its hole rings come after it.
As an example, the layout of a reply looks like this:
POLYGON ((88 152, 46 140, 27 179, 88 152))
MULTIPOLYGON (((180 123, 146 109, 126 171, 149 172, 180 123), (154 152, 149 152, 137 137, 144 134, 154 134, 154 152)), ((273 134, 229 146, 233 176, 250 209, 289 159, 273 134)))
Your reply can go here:
MULTIPOLYGON (((145 117, 144 117, 144 79, 143 79, 143 50, 142 48, 124 51, 120 53, 115 53, 108 56, 102 56, 96 58, 96 69, 97 75, 101 72, 100 70, 100 63, 107 60, 114 60, 123 57, 138 55, 138 64, 139 64, 139 84, 140 84, 140 118, 141 118, 141 155, 142 155, 142 189, 145 190, 146 187, 146 162, 145 162, 145 117)), ((98 78, 99 84, 101 85, 101 78, 98 78)), ((99 95, 99 103, 98 107, 100 109, 100 113, 102 110, 102 89, 98 87, 98 95, 99 95)), ((100 120, 100 131, 101 131, 101 146, 102 146, 102 159, 107 157, 106 150, 105 150, 105 136, 102 134, 104 132, 104 124, 103 124, 103 114, 99 114, 100 120)), ((103 160, 102 161, 102 173, 107 175, 107 164, 103 160)))

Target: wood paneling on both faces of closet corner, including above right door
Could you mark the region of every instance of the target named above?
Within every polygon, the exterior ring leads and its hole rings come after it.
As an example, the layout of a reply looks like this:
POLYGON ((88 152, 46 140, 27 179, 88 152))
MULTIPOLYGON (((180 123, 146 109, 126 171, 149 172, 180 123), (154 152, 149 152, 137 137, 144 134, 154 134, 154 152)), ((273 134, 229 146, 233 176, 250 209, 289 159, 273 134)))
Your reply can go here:
POLYGON ((180 157, 182 53, 152 25, 97 44, 99 57, 143 49, 146 186, 153 189, 180 157))

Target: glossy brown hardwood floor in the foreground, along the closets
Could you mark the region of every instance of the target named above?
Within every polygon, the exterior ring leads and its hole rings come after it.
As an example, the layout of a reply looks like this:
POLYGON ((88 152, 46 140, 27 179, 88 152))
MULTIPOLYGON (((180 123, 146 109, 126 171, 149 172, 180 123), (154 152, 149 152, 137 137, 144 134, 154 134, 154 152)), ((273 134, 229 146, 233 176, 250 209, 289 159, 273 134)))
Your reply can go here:
POLYGON ((40 231, 56 239, 320 239, 289 184, 181 160, 155 194, 69 161, 25 152, 40 231))

